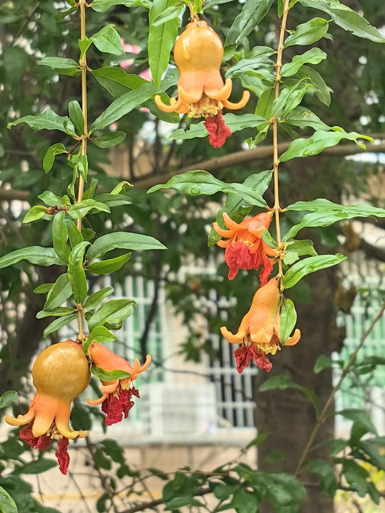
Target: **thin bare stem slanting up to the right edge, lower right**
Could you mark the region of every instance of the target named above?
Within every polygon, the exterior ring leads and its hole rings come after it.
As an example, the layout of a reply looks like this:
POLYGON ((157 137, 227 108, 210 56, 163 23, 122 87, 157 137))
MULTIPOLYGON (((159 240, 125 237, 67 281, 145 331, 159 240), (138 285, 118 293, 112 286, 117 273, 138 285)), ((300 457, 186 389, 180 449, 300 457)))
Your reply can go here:
POLYGON ((368 336, 369 336, 370 332, 372 331, 372 329, 374 328, 374 326, 381 319, 382 314, 383 314, 384 311, 385 311, 385 303, 383 303, 383 305, 381 306, 380 310, 377 312, 376 317, 371 322, 369 328, 362 335, 361 340, 359 341, 359 344, 356 347, 355 351, 352 353, 352 356, 350 357, 348 364, 342 370, 341 377, 338 380, 338 383, 336 384, 336 386, 331 391, 330 396, 329 396, 328 400, 325 403, 325 406, 322 408, 322 411, 319 414, 319 417, 318 417, 318 420, 317 420, 317 424, 314 426, 314 429, 313 429, 313 431, 312 431, 312 433, 310 435, 309 441, 307 442, 306 447, 303 450, 302 456, 301 456, 301 458, 300 458, 300 460, 298 462, 297 468, 296 468, 296 470, 294 472, 294 476, 295 477, 297 477, 299 475, 299 473, 300 473, 300 471, 302 469, 302 465, 304 464, 304 462, 305 462, 305 460, 307 458, 307 455, 309 454, 309 452, 310 452, 310 450, 311 450, 311 448, 313 446, 313 443, 314 443, 314 440, 315 440, 315 438, 317 436, 319 428, 321 427, 321 424, 326 419, 329 406, 332 404, 336 392, 339 390, 342 381, 347 377, 348 372, 350 371, 350 369, 354 365, 354 362, 356 361, 356 358, 357 358, 358 351, 363 346, 365 340, 368 338, 368 336))

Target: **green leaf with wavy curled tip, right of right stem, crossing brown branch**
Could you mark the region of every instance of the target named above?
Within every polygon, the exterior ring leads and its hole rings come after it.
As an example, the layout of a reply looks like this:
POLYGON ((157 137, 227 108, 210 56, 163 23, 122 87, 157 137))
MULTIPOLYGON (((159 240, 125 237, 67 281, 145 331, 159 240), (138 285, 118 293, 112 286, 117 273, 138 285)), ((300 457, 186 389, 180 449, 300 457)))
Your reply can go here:
POLYGON ((310 155, 318 155, 325 148, 335 146, 341 139, 349 139, 354 141, 360 148, 365 149, 365 145, 359 144, 357 139, 367 139, 373 142, 371 137, 360 135, 357 132, 315 132, 310 139, 297 139, 293 141, 288 149, 280 156, 280 162, 287 162, 295 157, 307 157, 310 155))

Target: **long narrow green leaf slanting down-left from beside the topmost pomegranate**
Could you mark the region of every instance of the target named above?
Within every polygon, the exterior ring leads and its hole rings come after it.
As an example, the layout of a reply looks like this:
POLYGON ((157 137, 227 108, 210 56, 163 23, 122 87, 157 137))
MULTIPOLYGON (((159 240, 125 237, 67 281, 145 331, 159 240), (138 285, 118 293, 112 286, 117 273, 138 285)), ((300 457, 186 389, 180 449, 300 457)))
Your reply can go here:
POLYGON ((111 123, 120 120, 122 116, 141 105, 154 93, 155 86, 151 83, 143 84, 134 91, 123 94, 112 102, 104 112, 92 123, 91 130, 102 130, 111 123))

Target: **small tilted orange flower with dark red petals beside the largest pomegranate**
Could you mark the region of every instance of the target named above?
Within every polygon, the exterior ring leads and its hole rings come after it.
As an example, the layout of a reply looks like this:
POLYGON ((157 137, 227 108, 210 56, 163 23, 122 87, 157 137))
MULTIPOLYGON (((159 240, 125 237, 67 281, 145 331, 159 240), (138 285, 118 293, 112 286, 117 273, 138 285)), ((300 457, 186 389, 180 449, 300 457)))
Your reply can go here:
POLYGON ((102 405, 102 411, 107 415, 105 421, 107 426, 120 422, 123 414, 124 418, 127 419, 128 413, 134 405, 134 402, 131 401, 132 396, 140 398, 138 390, 132 383, 150 365, 150 355, 147 354, 146 361, 142 366, 137 359, 132 366, 123 357, 114 354, 105 346, 92 342, 89 348, 89 356, 95 365, 102 367, 106 371, 125 370, 131 374, 130 378, 122 380, 102 381, 102 385, 99 388, 102 390, 103 396, 95 401, 87 400, 90 406, 102 405))

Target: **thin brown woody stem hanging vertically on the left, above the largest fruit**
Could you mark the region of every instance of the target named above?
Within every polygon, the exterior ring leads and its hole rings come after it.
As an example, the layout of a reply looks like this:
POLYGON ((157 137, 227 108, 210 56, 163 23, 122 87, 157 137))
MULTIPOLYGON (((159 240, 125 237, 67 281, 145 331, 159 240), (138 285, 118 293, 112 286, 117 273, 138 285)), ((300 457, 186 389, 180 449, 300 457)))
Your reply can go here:
MULTIPOLYGON (((83 40, 86 37, 86 0, 80 0, 80 38, 83 40)), ((87 154, 87 59, 84 54, 82 61, 82 112, 84 117, 84 135, 82 135, 82 155, 87 154)), ((84 191, 84 180, 83 176, 79 175, 79 187, 78 187, 78 203, 83 199, 84 191)), ((82 219, 78 219, 78 230, 82 230, 82 219)), ((78 324, 79 324, 79 340, 84 341, 83 331, 83 312, 82 305, 78 305, 78 324)))

